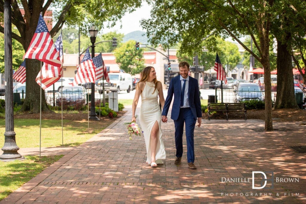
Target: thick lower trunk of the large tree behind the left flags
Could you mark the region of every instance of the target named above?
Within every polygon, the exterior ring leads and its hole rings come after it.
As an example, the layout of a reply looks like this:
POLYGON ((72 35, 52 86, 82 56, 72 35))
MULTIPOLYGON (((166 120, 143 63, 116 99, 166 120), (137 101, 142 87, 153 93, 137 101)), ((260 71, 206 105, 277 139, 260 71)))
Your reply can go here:
MULTIPOLYGON (((20 111, 29 111, 31 113, 40 112, 40 86, 36 83, 35 78, 42 67, 42 63, 38 60, 26 59, 26 87, 25 99, 20 111)), ((45 91, 42 89, 42 111, 47 111, 47 103, 45 91)))

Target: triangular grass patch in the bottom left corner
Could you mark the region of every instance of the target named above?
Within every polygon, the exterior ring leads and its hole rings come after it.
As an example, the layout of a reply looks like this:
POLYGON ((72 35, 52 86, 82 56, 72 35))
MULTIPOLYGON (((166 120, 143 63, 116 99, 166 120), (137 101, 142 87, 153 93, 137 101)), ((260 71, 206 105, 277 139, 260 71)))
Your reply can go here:
POLYGON ((0 161, 0 200, 31 180, 45 168, 62 158, 57 156, 25 156, 25 160, 0 161))

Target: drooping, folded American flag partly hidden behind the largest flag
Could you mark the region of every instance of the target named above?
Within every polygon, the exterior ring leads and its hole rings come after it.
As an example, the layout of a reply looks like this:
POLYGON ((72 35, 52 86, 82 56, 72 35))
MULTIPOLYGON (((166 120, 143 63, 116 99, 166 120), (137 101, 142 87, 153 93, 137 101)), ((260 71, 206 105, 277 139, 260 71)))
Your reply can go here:
MULTIPOLYGON (((57 40, 55 41, 55 48, 58 51, 58 55, 62 63, 64 63, 64 56, 63 56, 63 38, 62 33, 58 36, 57 40)), ((53 65, 43 63, 43 67, 39 71, 38 75, 36 76, 36 82, 42 89, 46 89, 55 82, 58 81, 62 77, 62 67, 55 67, 53 65), (40 79, 41 77, 41 79, 40 79)))

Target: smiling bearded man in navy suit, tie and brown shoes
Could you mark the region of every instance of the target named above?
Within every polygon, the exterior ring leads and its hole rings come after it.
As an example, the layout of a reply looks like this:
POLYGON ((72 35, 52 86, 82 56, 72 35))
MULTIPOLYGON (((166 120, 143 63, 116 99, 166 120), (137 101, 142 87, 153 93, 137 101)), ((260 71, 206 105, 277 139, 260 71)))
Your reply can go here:
POLYGON ((174 101, 171 110, 171 119, 175 126, 175 147, 176 160, 174 164, 181 164, 183 155, 183 129, 185 122, 185 132, 187 141, 187 161, 190 169, 196 169, 194 162, 194 128, 196 120, 198 127, 202 122, 202 111, 199 94, 198 81, 188 76, 189 64, 185 61, 178 65, 180 75, 170 81, 167 98, 162 111, 162 122, 167 122, 167 114, 174 94, 174 101))

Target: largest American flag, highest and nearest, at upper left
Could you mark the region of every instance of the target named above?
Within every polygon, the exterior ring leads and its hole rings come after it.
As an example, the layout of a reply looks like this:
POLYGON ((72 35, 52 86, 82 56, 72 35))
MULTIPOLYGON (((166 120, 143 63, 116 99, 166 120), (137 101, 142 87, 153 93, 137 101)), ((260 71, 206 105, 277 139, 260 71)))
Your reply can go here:
POLYGON ((41 14, 30 46, 23 56, 24 58, 37 59, 56 67, 61 67, 62 65, 46 22, 41 14))

